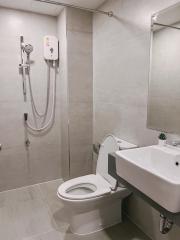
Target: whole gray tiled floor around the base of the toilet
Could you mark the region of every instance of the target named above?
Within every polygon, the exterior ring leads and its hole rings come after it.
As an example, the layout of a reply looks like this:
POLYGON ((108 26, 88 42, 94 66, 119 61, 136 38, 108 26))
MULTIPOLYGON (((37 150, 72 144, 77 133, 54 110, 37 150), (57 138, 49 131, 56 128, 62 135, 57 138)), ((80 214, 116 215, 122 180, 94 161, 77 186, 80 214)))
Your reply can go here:
POLYGON ((149 240, 131 222, 78 237, 69 231, 63 205, 56 197, 61 180, 0 193, 2 240, 149 240))

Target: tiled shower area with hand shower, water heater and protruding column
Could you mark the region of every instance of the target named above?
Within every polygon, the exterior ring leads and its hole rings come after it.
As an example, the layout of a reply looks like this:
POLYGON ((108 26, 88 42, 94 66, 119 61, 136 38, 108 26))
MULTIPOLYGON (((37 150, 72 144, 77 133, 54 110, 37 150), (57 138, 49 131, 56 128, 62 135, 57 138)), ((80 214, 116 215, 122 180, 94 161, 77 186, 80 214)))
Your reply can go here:
POLYGON ((92 13, 33 4, 0 7, 0 192, 92 172, 92 13))

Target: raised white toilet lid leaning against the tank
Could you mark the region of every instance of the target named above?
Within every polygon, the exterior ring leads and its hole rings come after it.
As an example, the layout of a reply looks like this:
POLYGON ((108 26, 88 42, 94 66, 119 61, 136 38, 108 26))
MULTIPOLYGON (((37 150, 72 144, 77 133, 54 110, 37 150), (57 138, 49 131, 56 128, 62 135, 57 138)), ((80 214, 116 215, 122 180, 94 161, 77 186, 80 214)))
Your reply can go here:
POLYGON ((108 135, 101 144, 97 161, 96 173, 104 177, 112 188, 116 186, 116 179, 108 173, 108 154, 119 150, 120 141, 113 135, 108 135))

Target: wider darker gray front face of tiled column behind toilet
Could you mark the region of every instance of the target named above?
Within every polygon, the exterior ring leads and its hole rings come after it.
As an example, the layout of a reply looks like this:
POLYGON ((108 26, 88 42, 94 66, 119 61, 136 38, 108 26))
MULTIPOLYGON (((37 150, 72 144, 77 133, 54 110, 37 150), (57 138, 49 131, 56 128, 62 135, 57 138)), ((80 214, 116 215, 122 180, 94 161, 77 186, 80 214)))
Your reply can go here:
POLYGON ((92 14, 67 8, 70 177, 92 171, 92 14))

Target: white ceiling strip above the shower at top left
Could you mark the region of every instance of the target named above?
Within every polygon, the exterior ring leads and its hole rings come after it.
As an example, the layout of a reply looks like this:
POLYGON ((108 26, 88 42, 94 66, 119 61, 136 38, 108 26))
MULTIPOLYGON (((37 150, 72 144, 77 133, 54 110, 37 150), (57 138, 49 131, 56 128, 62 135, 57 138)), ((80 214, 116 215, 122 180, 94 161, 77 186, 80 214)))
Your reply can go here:
MULTIPOLYGON (((56 0, 67 4, 74 4, 87 8, 98 8, 105 0, 56 0)), ((34 0, 0 0, 1 7, 20 9, 41 14, 57 16, 63 9, 61 6, 36 2, 34 0)))

